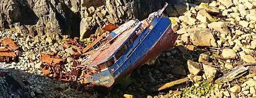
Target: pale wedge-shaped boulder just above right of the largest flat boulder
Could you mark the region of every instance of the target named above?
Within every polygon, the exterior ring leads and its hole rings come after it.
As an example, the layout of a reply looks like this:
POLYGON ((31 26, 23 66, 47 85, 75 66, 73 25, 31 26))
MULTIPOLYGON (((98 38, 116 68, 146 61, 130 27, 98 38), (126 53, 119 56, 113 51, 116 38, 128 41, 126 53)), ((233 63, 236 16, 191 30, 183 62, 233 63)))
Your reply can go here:
POLYGON ((228 29, 228 26, 225 22, 212 22, 210 24, 208 24, 208 27, 210 29, 215 29, 217 30, 218 32, 220 33, 223 33, 223 34, 231 34, 230 30, 228 29))

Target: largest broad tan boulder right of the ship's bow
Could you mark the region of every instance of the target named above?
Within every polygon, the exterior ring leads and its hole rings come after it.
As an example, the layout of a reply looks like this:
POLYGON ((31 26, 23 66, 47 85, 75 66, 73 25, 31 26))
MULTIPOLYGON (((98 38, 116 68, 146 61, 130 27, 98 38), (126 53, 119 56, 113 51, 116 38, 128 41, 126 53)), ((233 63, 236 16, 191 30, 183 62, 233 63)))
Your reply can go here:
POLYGON ((187 29, 187 32, 190 34, 193 45, 217 47, 216 40, 210 29, 192 28, 187 29))

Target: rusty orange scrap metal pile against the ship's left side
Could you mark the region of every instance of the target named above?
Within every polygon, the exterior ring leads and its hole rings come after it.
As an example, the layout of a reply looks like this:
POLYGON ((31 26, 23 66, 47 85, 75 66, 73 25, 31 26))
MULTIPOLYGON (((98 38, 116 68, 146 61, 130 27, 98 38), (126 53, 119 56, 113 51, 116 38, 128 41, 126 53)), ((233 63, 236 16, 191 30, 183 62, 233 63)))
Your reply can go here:
POLYGON ((94 40, 90 45, 86 45, 86 42, 83 42, 78 38, 66 39, 62 45, 65 48, 74 48, 76 50, 76 52, 72 53, 70 56, 74 59, 70 69, 66 69, 65 67, 68 63, 64 60, 66 57, 59 56, 55 52, 47 54, 41 53, 40 62, 42 63, 42 73, 47 77, 58 78, 61 81, 87 83, 84 81, 84 78, 95 74, 97 71, 86 67, 78 68, 81 64, 81 62, 78 62, 78 59, 81 60, 81 58, 87 57, 92 54, 97 47, 101 46, 103 44, 101 42, 106 40, 104 35, 107 35, 107 33, 109 33, 107 30, 97 30, 95 35, 91 35, 89 38, 90 40, 94 40), (102 33, 103 35, 101 35, 102 33), (96 34, 101 36, 97 36, 96 34))

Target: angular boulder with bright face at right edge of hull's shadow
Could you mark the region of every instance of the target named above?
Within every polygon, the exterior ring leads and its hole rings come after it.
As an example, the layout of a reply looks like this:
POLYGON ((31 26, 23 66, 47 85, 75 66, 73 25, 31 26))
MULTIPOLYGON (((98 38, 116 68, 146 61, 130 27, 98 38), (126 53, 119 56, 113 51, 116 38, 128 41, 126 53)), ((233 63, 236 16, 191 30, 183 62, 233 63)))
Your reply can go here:
POLYGON ((199 63, 193 62, 192 60, 187 60, 188 70, 193 75, 198 75, 201 70, 201 65, 199 63))

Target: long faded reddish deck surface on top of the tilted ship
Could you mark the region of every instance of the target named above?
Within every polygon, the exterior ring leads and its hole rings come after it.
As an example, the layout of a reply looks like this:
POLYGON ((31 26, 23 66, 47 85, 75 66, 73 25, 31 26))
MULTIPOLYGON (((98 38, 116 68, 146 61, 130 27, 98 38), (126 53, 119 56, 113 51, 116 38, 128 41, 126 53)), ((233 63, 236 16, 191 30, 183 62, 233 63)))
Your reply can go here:
POLYGON ((95 53, 92 54, 92 57, 91 57, 92 63, 90 63, 88 66, 92 67, 111 59, 114 55, 114 52, 116 52, 118 48, 124 44, 124 42, 129 38, 129 36, 138 26, 139 24, 121 33, 113 42, 113 44, 111 45, 107 44, 106 46, 100 47, 99 50, 97 50, 95 53))

